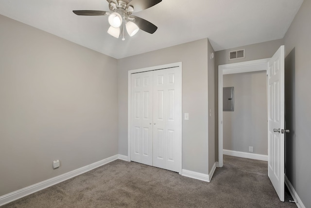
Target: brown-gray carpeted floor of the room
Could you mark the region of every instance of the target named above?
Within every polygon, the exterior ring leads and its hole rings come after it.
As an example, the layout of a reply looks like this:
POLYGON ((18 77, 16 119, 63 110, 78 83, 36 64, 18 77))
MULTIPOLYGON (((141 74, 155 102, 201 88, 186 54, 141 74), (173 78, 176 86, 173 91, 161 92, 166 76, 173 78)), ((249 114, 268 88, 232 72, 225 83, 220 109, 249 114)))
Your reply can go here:
POLYGON ((289 199, 279 201, 267 162, 224 155, 210 183, 116 160, 2 208, 296 208, 289 199))

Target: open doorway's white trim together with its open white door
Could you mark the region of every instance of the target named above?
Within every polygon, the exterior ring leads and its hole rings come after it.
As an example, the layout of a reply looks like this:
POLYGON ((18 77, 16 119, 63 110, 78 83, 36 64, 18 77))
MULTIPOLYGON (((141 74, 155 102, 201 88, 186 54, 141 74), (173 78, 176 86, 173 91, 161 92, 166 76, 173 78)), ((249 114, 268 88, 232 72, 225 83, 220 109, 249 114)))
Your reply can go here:
POLYGON ((267 71, 268 88, 268 177, 274 186, 280 201, 284 202, 284 45, 273 57, 218 67, 218 146, 219 164, 223 167, 223 75, 267 71))

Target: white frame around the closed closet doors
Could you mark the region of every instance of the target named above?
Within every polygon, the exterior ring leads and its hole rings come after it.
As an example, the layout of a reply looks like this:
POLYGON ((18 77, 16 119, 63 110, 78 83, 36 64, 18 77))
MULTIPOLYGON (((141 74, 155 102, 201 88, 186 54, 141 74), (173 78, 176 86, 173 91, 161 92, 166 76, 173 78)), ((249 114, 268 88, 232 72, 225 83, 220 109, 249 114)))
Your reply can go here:
POLYGON ((171 63, 171 64, 165 64, 165 65, 160 65, 160 66, 153 66, 153 67, 147 67, 147 68, 142 68, 142 69, 135 69, 135 70, 130 70, 128 71, 128 115, 127 115, 127 147, 128 147, 128 161, 131 161, 131 75, 135 73, 140 73, 140 72, 148 72, 148 71, 155 71, 155 70, 161 70, 161 69, 169 69, 169 68, 175 68, 179 67, 179 97, 180 97, 180 102, 178 103, 180 112, 179 114, 179 135, 180 135, 180 141, 179 141, 179 174, 182 173, 182 62, 176 62, 176 63, 171 63))

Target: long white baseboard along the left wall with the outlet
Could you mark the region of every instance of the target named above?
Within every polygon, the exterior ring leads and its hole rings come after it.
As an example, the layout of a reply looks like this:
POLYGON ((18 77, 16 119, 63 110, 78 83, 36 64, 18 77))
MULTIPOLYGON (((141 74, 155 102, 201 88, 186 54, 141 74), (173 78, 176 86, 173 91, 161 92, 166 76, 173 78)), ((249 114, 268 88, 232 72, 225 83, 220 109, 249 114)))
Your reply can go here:
POLYGON ((59 175, 59 176, 53 177, 51 179, 39 182, 39 183, 34 184, 32 186, 29 186, 29 187, 26 187, 23 189, 19 189, 17 191, 14 191, 14 192, 5 194, 3 196, 0 196, 0 206, 5 205, 7 203, 10 203, 12 201, 15 201, 15 200, 22 198, 24 196, 27 196, 29 194, 35 193, 39 190, 46 189, 46 188, 51 187, 51 186, 58 184, 60 182, 66 181, 72 177, 75 177, 77 175, 85 173, 89 170, 93 170, 95 168, 103 166, 107 163, 110 163, 114 160, 117 160, 118 158, 119 158, 119 155, 117 154, 117 155, 108 157, 106 159, 103 159, 101 161, 98 161, 98 162, 92 163, 90 165, 84 166, 82 168, 72 170, 72 171, 64 173, 62 175, 59 175))

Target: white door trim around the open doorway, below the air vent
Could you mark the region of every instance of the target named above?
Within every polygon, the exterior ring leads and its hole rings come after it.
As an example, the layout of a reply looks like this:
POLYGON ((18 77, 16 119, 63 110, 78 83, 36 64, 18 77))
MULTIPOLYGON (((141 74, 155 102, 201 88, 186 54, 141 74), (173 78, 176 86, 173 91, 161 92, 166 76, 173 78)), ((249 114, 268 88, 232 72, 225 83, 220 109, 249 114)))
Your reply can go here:
POLYGON ((223 167, 224 157, 224 128, 223 128, 223 75, 244 72, 267 71, 267 63, 270 58, 244 61, 239 63, 218 66, 218 165, 223 167))

